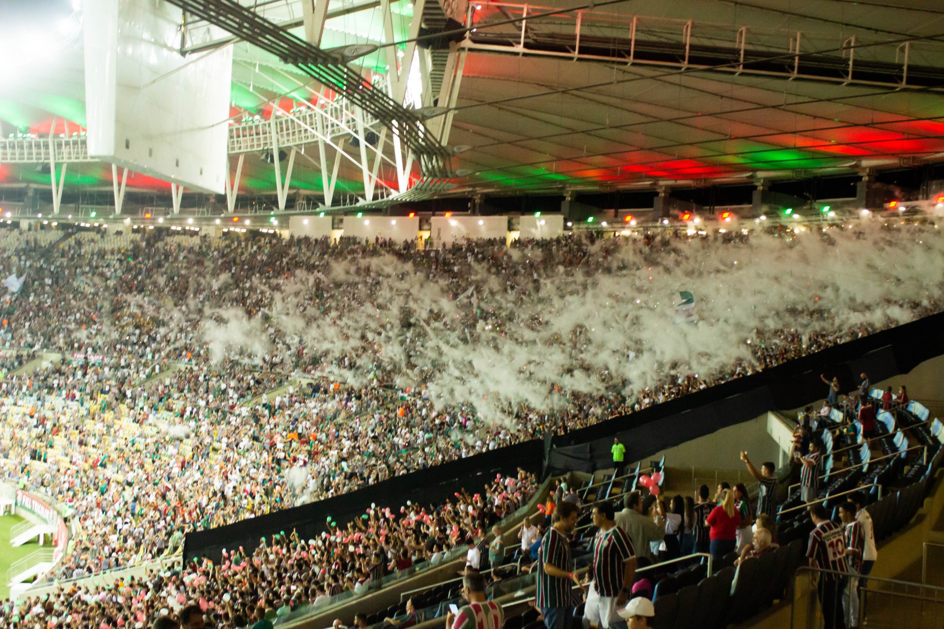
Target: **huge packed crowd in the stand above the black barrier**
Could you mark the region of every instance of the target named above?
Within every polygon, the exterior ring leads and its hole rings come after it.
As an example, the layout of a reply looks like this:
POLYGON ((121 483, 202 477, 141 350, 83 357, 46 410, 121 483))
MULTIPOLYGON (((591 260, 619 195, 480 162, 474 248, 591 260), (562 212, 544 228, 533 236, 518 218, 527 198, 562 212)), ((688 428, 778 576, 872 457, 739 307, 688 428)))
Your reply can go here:
POLYGON ((941 309, 933 228, 831 231, 425 250, 4 232, 0 273, 25 282, 0 346, 63 359, 0 384, 0 473, 72 507, 57 576, 80 575, 941 309))

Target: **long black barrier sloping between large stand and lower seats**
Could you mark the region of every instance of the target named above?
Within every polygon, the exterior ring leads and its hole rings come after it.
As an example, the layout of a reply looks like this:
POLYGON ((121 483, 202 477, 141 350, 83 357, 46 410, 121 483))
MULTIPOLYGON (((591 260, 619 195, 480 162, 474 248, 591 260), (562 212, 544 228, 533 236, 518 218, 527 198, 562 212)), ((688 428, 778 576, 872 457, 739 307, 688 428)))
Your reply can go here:
POLYGON ((297 506, 227 526, 188 533, 184 559, 218 561, 224 548, 255 548, 260 538, 297 529, 302 538, 328 530, 330 516, 342 525, 360 518, 371 503, 405 505, 407 500, 435 505, 459 488, 479 491, 496 473, 520 467, 545 475, 572 470, 593 472, 613 467, 614 437, 626 446, 626 460, 643 460, 666 448, 697 439, 768 410, 797 408, 826 397, 820 373, 838 376, 843 390, 856 389, 860 372, 872 382, 910 372, 919 363, 944 355, 944 313, 852 340, 764 372, 650 406, 553 439, 533 439, 507 448, 469 456, 444 465, 391 478, 310 505, 297 506))

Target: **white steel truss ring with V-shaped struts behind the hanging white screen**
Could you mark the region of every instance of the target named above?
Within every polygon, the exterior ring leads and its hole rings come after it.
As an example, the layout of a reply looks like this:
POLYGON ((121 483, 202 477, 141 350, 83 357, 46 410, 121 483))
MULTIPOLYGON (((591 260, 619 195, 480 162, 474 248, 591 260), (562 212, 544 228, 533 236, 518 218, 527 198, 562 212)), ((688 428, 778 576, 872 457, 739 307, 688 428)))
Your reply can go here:
MULTIPOLYGON (((174 0, 170 1, 178 6, 180 4, 174 0)), ((459 7, 458 0, 445 0, 447 8, 444 8, 441 2, 444 0, 414 2, 413 18, 409 26, 410 39, 419 34, 421 25, 433 32, 443 29, 447 22, 447 11, 450 15, 459 12, 459 17, 462 17, 464 8, 459 7), (452 4, 449 4, 450 2, 452 4)), ((215 6, 221 3, 211 1, 198 4, 215 6)), ((394 16, 390 0, 378 0, 368 4, 369 6, 363 3, 345 5, 341 9, 329 10, 329 0, 300 0, 306 40, 312 44, 307 48, 314 51, 312 56, 327 55, 312 47, 320 43, 325 21, 333 17, 338 10, 344 12, 352 7, 357 10, 380 8, 384 25, 381 43, 393 44, 394 16)), ((292 10, 295 11, 295 7, 292 10)), ((213 15, 216 14, 210 13, 208 16, 213 15)), ((188 28, 194 28, 197 18, 193 12, 186 13, 185 18, 183 32, 186 38, 188 28)), ((219 32, 217 26, 202 18, 198 23, 208 29, 208 33, 212 28, 217 28, 216 32, 219 32)), ((253 27, 256 26, 258 25, 253 27)), ((279 33, 266 35, 277 41, 279 36, 279 33)), ((290 43, 295 45, 298 41, 290 43)), ((285 93, 309 91, 312 94, 311 102, 299 102, 297 107, 291 110, 279 107, 277 102, 269 118, 257 116, 230 124, 228 154, 238 157, 235 172, 228 169, 225 184, 230 213, 236 208, 246 153, 271 155, 265 159, 274 167, 278 208, 283 211, 289 197, 295 162, 299 158, 307 160, 320 172, 324 205, 327 208, 335 207, 334 191, 342 163, 347 163, 362 174, 363 194, 355 197, 357 205, 362 207, 379 207, 399 200, 428 198, 436 192, 454 187, 449 181, 450 173, 445 167, 449 153, 443 146, 448 141, 451 115, 447 113, 435 116, 423 123, 412 109, 403 105, 410 103, 413 107, 431 108, 438 103, 447 107, 454 106, 462 78, 465 50, 455 42, 450 43, 448 49, 436 46, 421 48, 413 42, 407 46, 406 54, 404 51, 397 54, 395 45, 388 45, 385 52, 388 55, 389 73, 374 74, 369 83, 346 66, 340 65, 340 68, 336 68, 340 70, 339 75, 347 81, 345 85, 353 84, 352 75, 356 76, 357 89, 341 91, 337 89, 336 80, 331 83, 319 78, 319 82, 335 91, 331 97, 326 95, 327 91, 312 88, 311 82, 300 79, 296 74, 285 72, 276 63, 268 66, 274 72, 266 74, 266 81, 274 83, 278 90, 285 93), (415 80, 416 74, 419 85, 415 80), (279 75, 282 78, 279 78, 279 75), (377 100, 374 96, 377 95, 381 96, 380 105, 396 106, 392 107, 393 113, 402 114, 403 119, 394 119, 391 117, 391 111, 380 110, 374 102, 377 100), (422 144, 419 148, 426 149, 431 146, 434 154, 417 153, 416 134, 422 144), (310 149, 307 153, 306 148, 310 149), (315 150, 311 150, 312 148, 315 150), (420 177, 413 174, 413 163, 416 160, 421 167, 420 177), (394 173, 396 177, 392 176, 394 173), (394 183, 388 183, 391 181, 394 183)), ((338 65, 333 61, 332 63, 338 65)), ((251 68, 251 64, 244 65, 251 68)), ((306 74, 312 75, 312 72, 302 67, 303 65, 299 64, 299 67, 306 74)), ((254 90, 251 81, 245 87, 262 101, 271 100, 254 90)), ((51 180, 54 199, 61 198, 67 163, 95 161, 97 160, 88 156, 84 134, 66 138, 50 136, 49 139, 20 137, 0 140, 0 163, 49 163, 53 165, 50 170, 54 173, 55 164, 58 162, 61 165, 62 173, 59 174, 59 179, 53 175, 51 180)), ((116 213, 121 214, 127 169, 122 169, 121 173, 114 165, 111 169, 114 207, 116 213)), ((182 191, 180 186, 172 187, 175 213, 179 212, 182 191)), ((347 196, 346 200, 350 203, 351 197, 347 196)))

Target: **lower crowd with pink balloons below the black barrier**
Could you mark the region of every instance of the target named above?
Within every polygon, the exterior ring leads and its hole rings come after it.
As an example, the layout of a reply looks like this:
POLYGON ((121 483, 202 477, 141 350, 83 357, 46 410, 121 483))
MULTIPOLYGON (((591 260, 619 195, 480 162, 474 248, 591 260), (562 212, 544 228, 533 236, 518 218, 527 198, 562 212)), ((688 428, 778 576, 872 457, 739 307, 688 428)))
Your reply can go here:
MULTIPOLYGON (((26 627, 150 627, 161 616, 181 618, 188 605, 215 627, 245 627, 257 616, 280 617, 328 604, 344 592, 379 586, 389 573, 436 565, 452 549, 485 539, 537 488, 522 470, 498 475, 479 493, 456 492, 441 505, 369 505, 361 519, 302 539, 295 531, 261 538, 256 548, 227 549, 219 563, 194 561, 182 570, 148 571, 110 586, 63 584, 55 593, 6 601, 0 622, 26 627)), ((500 535, 500 528, 497 535, 500 535)))

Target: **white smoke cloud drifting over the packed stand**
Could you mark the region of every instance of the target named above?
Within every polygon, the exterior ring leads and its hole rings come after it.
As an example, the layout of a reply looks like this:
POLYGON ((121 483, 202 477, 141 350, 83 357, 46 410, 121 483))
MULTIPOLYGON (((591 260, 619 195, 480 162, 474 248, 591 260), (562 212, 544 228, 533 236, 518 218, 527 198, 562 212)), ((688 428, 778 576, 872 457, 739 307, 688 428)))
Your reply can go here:
POLYGON ((259 355, 275 345, 272 325, 289 347, 328 356, 322 374, 363 384, 366 366, 377 363, 400 387, 426 384, 439 404, 471 403, 502 421, 509 404, 552 411, 566 391, 600 392, 603 372, 635 391, 667 372, 729 372, 752 361, 748 340, 761 332, 809 337, 905 323, 914 314, 902 304, 944 297, 944 239, 933 227, 753 234, 747 243, 697 240, 657 252, 639 240, 602 240, 590 253, 601 260, 596 273, 565 269, 557 258, 548 265, 537 250, 509 255, 534 260, 540 289, 521 278, 506 285, 472 260, 456 299, 455 285, 393 256, 331 261, 324 274, 293 273, 266 289, 265 325, 242 311, 214 311, 204 337, 214 360, 259 355), (682 290, 695 294, 696 323, 676 323, 682 290), (475 308, 500 315, 466 327, 475 308), (828 314, 809 316, 812 308, 828 314), (357 358, 357 369, 333 364, 344 355, 357 358))

